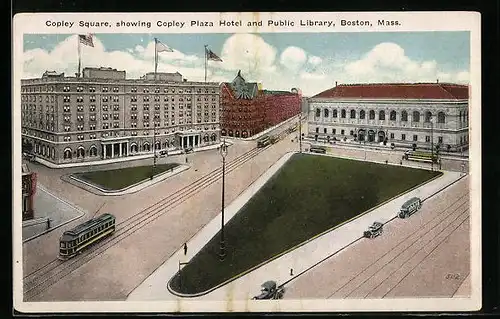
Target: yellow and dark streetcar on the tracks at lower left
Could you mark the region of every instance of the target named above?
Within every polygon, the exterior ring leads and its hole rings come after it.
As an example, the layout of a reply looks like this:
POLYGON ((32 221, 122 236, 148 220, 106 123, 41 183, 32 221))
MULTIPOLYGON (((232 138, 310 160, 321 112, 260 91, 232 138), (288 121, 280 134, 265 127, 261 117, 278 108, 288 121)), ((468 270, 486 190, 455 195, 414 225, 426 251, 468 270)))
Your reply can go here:
POLYGON ((65 231, 59 240, 58 258, 70 259, 91 244, 111 235, 115 231, 115 222, 115 216, 106 213, 65 231))

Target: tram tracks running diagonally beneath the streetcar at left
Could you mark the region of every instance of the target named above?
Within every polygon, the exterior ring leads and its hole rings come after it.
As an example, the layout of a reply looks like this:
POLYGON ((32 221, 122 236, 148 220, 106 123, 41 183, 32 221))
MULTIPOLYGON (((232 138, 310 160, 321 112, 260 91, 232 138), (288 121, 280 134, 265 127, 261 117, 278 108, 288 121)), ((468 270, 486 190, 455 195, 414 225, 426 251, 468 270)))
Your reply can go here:
MULTIPOLYGON (((276 134, 277 142, 279 140, 282 140, 288 134, 289 133, 287 133, 286 130, 276 134)), ((232 161, 226 164, 226 174, 239 168, 252 158, 267 150, 272 145, 273 144, 267 145, 266 147, 262 148, 253 148, 243 153, 242 155, 237 156, 232 161)), ((117 223, 117 230, 111 237, 108 237, 107 239, 94 244, 92 247, 89 247, 89 249, 83 251, 79 257, 67 261, 54 259, 46 265, 31 272, 29 275, 24 277, 23 280, 24 299, 30 300, 33 297, 41 294, 47 288, 54 285, 67 275, 71 274, 76 269, 85 265, 96 256, 102 254, 107 249, 115 246, 120 241, 129 237, 152 221, 156 220, 166 212, 184 203, 188 198, 199 193, 202 189, 218 182, 221 176, 222 167, 214 169, 213 171, 205 174, 203 177, 179 189, 175 193, 166 196, 158 202, 126 218, 120 223, 117 223), (49 267, 52 264, 55 264, 55 266, 49 267), (42 270, 45 271, 42 272, 42 270), (39 275, 34 276, 35 274, 39 275)))

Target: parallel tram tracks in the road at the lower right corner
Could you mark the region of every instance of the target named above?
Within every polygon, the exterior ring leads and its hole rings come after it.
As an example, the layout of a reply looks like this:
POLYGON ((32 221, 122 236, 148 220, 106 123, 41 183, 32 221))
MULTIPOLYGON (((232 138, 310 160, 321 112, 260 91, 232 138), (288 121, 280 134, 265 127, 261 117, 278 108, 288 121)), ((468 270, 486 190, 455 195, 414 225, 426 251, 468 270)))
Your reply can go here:
MULTIPOLYGON (((400 244, 392 247, 375 261, 363 267, 361 271, 351 276, 348 281, 333 291, 327 298, 368 297, 373 291, 379 288, 379 286, 390 280, 392 276, 408 261, 412 260, 412 258, 414 258, 423 249, 429 247, 436 237, 441 234, 449 236, 460 225, 462 225, 469 218, 468 198, 469 192, 466 192, 464 195, 454 200, 450 205, 444 208, 441 213, 425 222, 421 227, 419 227, 419 229, 405 236, 400 241, 400 244), (458 223, 458 226, 456 223, 458 223), (428 240, 429 238, 425 238, 426 236, 429 236, 429 234, 434 234, 434 236, 430 237, 430 240, 428 240), (419 245, 421 246, 419 247, 419 245), (419 248, 415 249, 416 247, 419 248), (407 258, 403 258, 403 261, 401 262, 401 257, 405 257, 405 253, 409 253, 410 256, 406 256, 407 258), (389 269, 389 267, 394 267, 394 263, 397 263, 400 267, 395 267, 395 270, 391 270, 387 276, 383 275, 383 272, 389 269), (372 285, 373 287, 370 287, 370 280, 375 281, 375 279, 378 279, 376 285, 372 285), (352 297, 356 292, 358 292, 356 294, 357 296, 352 297)), ((439 242, 438 245, 440 243, 441 242, 439 242)), ((399 282, 397 284, 399 284, 399 282)), ((390 290, 392 290, 392 288, 390 290)))

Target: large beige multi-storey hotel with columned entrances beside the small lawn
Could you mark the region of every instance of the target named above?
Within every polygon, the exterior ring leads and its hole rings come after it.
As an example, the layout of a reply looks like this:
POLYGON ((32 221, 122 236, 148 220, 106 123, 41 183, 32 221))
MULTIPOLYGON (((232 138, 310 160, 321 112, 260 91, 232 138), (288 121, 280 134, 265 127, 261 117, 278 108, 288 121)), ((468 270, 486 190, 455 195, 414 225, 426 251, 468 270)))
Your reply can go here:
POLYGON ((219 84, 84 68, 21 81, 23 145, 55 166, 219 143, 219 84))

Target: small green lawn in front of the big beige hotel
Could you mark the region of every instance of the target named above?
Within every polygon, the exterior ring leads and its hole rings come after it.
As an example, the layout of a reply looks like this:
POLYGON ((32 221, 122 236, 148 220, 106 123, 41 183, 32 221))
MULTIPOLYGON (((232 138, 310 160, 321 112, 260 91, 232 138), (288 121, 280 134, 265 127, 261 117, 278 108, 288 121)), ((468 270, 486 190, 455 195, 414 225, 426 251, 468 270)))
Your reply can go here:
MULTIPOLYGON (((179 166, 179 164, 158 164, 156 165, 154 175, 161 174, 175 168, 176 166, 179 166)), ((75 173, 73 175, 81 180, 90 182, 106 190, 119 190, 149 179, 152 173, 153 166, 148 165, 112 169, 107 171, 75 173)))

